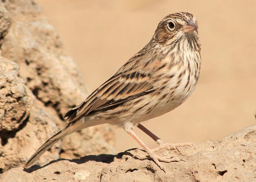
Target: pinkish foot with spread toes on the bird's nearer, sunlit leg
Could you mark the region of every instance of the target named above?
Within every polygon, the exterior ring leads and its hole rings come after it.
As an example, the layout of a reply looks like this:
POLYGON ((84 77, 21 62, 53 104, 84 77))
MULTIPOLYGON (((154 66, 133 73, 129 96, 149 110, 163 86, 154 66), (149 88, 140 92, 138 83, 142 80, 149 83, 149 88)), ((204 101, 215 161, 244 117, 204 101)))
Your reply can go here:
POLYGON ((148 155, 139 155, 139 154, 133 155, 132 158, 137 157, 140 160, 152 159, 159 166, 159 168, 164 172, 165 172, 164 166, 160 162, 171 163, 171 162, 179 162, 182 160, 179 157, 170 156, 169 153, 167 155, 164 155, 163 157, 158 156, 156 153, 154 153, 154 149, 147 151, 147 153, 148 155))

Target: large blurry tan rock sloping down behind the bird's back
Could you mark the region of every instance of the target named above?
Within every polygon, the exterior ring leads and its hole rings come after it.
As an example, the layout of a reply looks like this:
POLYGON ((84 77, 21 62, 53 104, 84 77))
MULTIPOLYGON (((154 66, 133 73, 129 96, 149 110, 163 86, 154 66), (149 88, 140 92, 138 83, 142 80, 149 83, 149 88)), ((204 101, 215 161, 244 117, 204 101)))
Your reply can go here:
POLYGON ((4 4, 12 26, 1 45, 2 55, 20 65, 20 73, 36 98, 62 118, 88 96, 76 64, 65 55, 57 32, 33 1, 4 4))

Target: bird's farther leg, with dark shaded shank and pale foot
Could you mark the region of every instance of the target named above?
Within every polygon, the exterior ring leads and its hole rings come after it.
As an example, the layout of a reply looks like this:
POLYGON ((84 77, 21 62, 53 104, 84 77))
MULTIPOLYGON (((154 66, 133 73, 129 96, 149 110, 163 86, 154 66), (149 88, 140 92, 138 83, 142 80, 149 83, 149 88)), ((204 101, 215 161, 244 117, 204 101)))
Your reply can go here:
POLYGON ((153 149, 154 152, 160 149, 167 149, 167 150, 177 149, 178 152, 180 152, 179 147, 193 146, 192 143, 165 143, 163 140, 158 138, 156 135, 154 135, 152 132, 150 132, 147 128, 145 128, 141 124, 139 124, 137 127, 140 128, 148 136, 150 136, 158 144, 159 147, 157 147, 156 149, 153 149))

